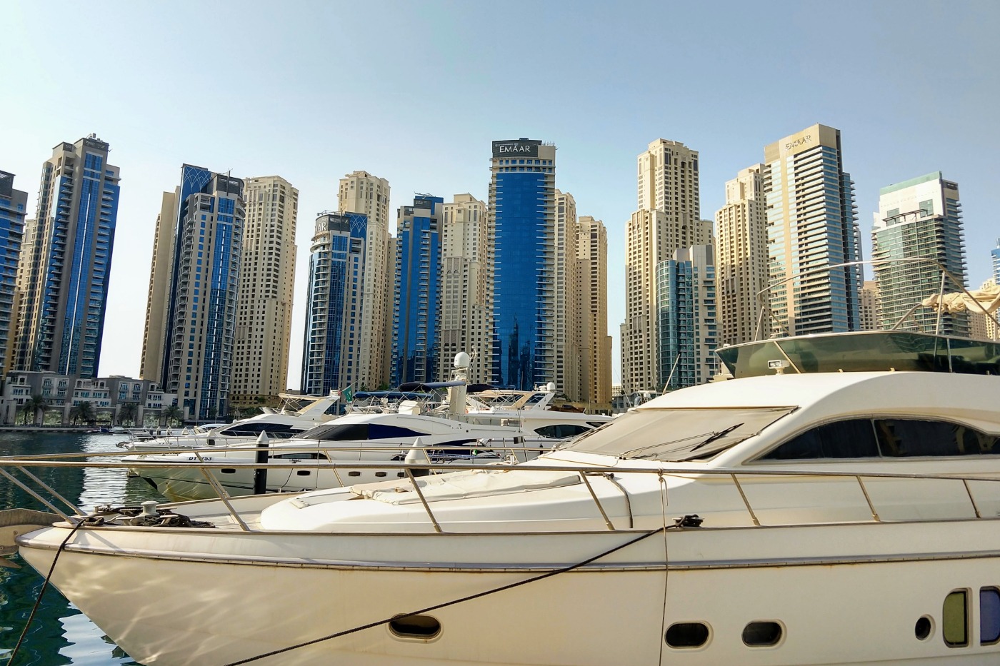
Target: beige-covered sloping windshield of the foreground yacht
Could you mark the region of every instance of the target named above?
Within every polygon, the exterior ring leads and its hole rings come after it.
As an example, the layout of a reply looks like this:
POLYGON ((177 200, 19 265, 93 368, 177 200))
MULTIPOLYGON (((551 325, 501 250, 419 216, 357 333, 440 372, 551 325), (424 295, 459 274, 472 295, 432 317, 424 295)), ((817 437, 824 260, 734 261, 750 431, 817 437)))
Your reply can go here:
POLYGON ((637 409, 581 435, 569 451, 682 462, 711 458, 760 433, 796 407, 637 409))

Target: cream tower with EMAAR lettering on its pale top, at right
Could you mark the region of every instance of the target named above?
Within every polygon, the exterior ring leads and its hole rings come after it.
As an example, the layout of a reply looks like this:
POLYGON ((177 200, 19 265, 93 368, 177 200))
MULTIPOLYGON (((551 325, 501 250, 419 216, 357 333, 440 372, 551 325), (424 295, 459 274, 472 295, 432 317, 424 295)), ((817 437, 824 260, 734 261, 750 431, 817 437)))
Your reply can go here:
POLYGON ((860 326, 861 259, 854 183, 840 130, 813 125, 764 148, 770 318, 773 334, 860 326))

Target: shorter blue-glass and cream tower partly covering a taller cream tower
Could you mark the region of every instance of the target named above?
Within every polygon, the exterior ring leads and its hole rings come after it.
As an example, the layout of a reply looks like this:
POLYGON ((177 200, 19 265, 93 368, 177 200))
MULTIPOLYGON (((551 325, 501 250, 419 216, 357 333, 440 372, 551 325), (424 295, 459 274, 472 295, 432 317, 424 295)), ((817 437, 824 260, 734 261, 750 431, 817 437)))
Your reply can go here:
POLYGON ((368 217, 361 213, 326 212, 316 218, 302 348, 306 395, 359 387, 367 231, 368 217))

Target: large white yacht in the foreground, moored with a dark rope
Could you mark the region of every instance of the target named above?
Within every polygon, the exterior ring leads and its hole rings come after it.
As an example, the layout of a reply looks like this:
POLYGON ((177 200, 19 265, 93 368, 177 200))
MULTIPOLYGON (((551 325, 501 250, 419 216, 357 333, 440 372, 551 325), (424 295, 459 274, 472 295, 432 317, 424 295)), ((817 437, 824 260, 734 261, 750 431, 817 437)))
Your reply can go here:
POLYGON ((1000 343, 720 356, 523 464, 105 507, 20 554, 157 666, 997 663, 1000 343))

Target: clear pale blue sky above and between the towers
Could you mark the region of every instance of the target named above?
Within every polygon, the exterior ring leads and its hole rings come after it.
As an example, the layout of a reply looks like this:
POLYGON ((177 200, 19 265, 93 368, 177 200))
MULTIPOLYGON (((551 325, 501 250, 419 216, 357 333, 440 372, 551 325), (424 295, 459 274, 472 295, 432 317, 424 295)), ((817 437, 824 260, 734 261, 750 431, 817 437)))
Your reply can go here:
MULTIPOLYGON (((0 169, 34 210, 52 146, 94 132, 121 167, 102 375, 138 376, 160 195, 187 162, 300 190, 289 384, 315 214, 337 182, 485 200, 490 141, 554 142, 556 186, 609 236, 624 317, 636 156, 701 154, 702 217, 764 146, 841 130, 865 256, 878 189, 959 183, 969 281, 1000 237, 1000 2, 56 2, 0 0, 0 169)), ((30 216, 30 214, 29 214, 30 216)))

